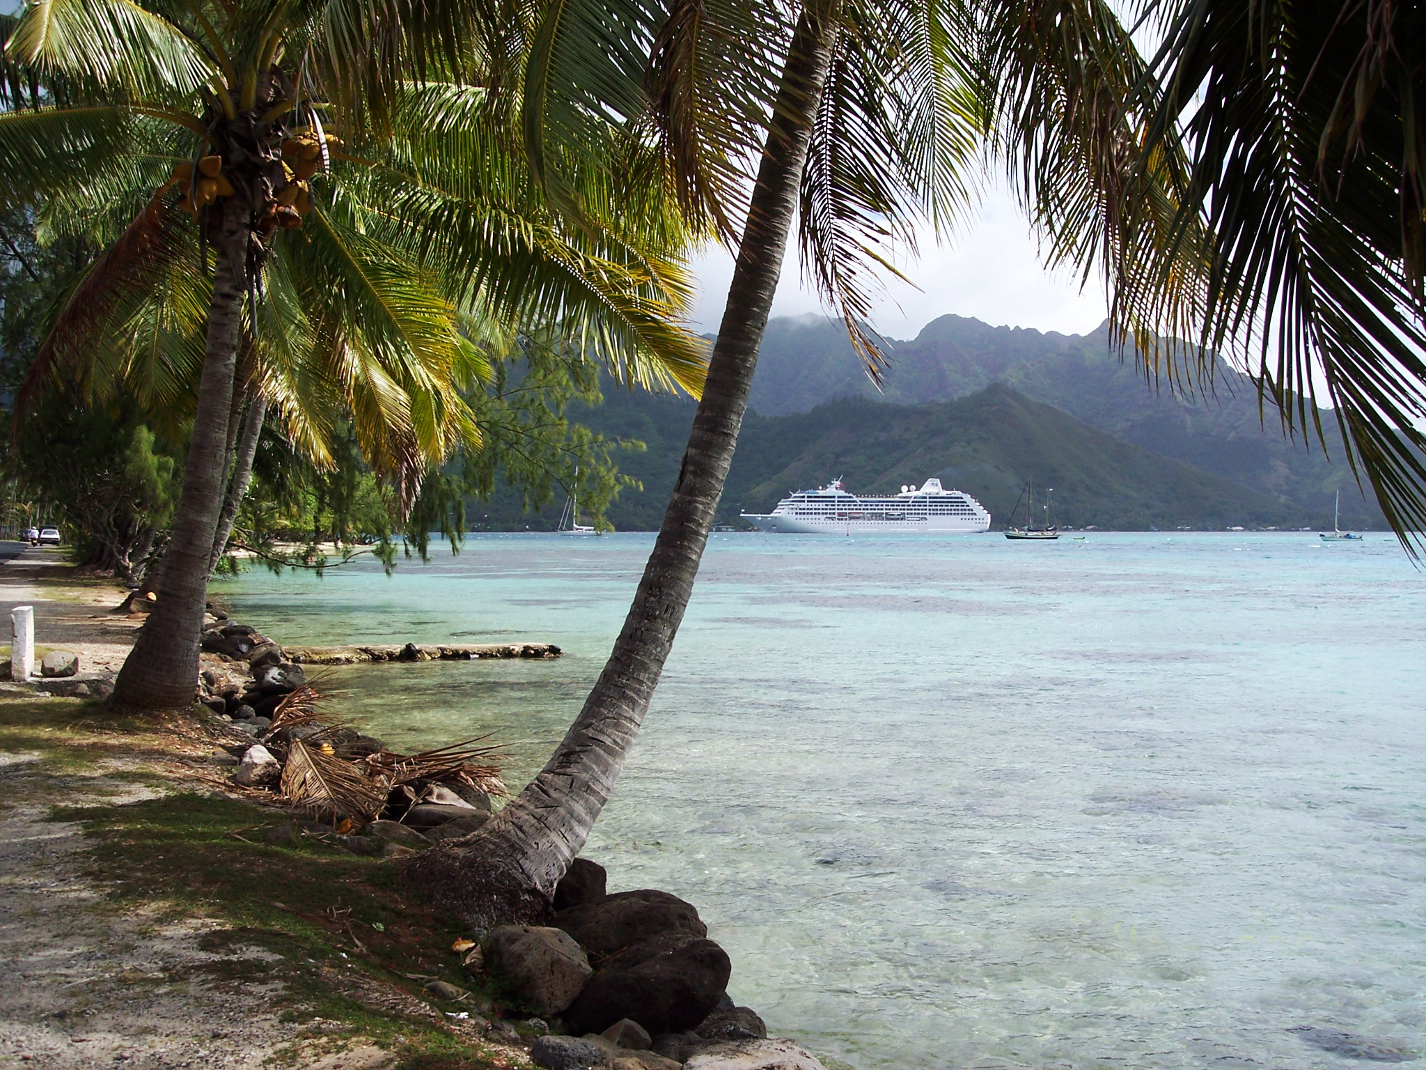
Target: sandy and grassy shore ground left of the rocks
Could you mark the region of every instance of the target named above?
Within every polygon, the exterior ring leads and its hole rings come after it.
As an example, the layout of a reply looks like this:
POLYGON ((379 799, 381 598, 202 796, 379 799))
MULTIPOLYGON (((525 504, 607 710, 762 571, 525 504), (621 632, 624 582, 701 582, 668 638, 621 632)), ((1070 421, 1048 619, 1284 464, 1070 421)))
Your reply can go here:
MULTIPOLYGON (((33 605, 37 651, 73 651, 81 675, 116 672, 133 645, 143 618, 113 612, 123 595, 60 551, 0 564, 6 616, 33 605)), ((0 682, 0 1070, 529 1067, 432 1006, 434 963, 382 957, 379 924, 355 936, 347 917, 375 900, 352 867, 378 863, 267 846, 285 813, 222 790, 228 735, 0 682), (268 902, 275 887, 318 902, 268 902)), ((451 940, 419 937, 432 959, 451 940)))

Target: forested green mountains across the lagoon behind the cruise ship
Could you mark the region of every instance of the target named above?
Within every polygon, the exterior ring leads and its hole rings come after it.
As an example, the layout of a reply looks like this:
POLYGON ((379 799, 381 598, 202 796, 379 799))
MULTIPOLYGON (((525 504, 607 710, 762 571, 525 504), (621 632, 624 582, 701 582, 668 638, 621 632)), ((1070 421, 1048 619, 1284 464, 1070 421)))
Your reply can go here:
MULTIPOLYGON (((1055 488, 1075 526, 1323 526, 1339 486, 1343 525, 1385 526, 1345 464, 1283 441, 1276 425, 1263 431, 1252 384, 1231 371, 1221 370, 1216 395, 1184 399, 1119 361, 1102 330, 1041 334, 950 315, 890 348, 878 394, 838 324, 769 324, 720 521, 838 475, 858 492, 938 475, 981 499, 997 525, 1034 479, 1055 488)), ((603 405, 572 415, 646 445, 617 455, 643 489, 623 491, 609 519, 620 531, 657 528, 693 402, 606 384, 603 405)), ((513 495, 496 495, 471 521, 550 528, 559 506, 528 515, 513 495)))

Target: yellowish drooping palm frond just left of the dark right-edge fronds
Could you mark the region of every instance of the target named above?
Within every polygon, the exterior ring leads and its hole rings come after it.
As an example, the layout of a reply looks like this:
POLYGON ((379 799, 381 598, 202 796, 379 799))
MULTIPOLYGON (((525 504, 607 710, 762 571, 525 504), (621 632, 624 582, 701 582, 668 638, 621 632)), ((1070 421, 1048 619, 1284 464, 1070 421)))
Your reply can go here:
POLYGON ((981 4, 980 67, 991 148, 1007 165, 1051 264, 1098 271, 1111 324, 1147 374, 1212 388, 1215 365, 1186 351, 1204 310, 1196 220, 1181 214, 1185 163, 1149 146, 1158 83, 1102 0, 981 4))

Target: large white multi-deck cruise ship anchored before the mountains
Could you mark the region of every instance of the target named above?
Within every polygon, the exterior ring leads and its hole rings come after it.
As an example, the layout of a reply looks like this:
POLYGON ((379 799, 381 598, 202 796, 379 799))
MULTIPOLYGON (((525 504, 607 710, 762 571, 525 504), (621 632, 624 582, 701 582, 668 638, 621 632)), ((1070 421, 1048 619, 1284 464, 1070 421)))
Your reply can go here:
POLYGON ((759 531, 801 535, 941 534, 990 528, 990 514, 963 491, 947 491, 940 479, 903 486, 886 498, 858 498, 841 479, 816 491, 796 491, 769 514, 739 514, 759 531))

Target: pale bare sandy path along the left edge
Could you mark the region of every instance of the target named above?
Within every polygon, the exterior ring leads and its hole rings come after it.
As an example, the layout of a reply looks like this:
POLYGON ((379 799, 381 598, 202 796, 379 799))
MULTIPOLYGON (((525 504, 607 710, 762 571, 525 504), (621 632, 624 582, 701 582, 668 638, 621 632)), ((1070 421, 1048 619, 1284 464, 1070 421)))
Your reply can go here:
MULTIPOLYGON (((0 564, 0 629, 9 639, 9 611, 33 605, 39 649, 73 651, 81 676, 114 673, 141 618, 111 612, 123 598, 113 582, 71 572, 63 552, 48 548, 0 564)), ((9 682, 0 689, 33 696, 9 682)), ((319 1027, 282 1021, 271 984, 204 983, 205 967, 231 974, 270 953, 208 952, 200 943, 215 923, 117 907, 86 875, 78 826, 47 820, 54 805, 121 805, 153 798, 151 788, 116 776, 133 770, 47 773, 39 758, 0 750, 0 1067, 257 1070, 319 1027)), ((375 1070, 391 1056, 358 1047, 298 1064, 375 1070)))

